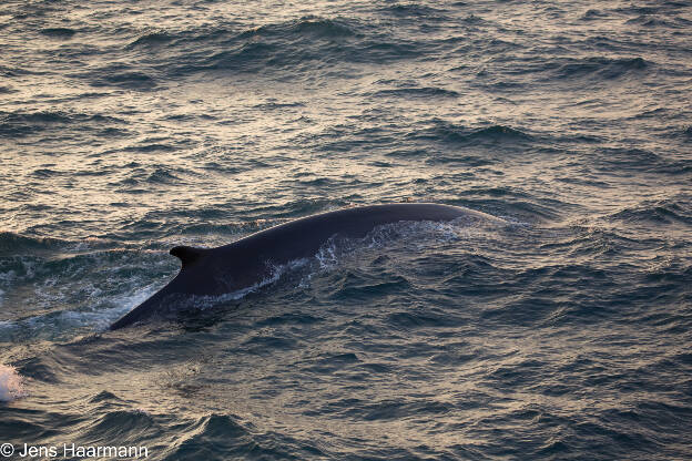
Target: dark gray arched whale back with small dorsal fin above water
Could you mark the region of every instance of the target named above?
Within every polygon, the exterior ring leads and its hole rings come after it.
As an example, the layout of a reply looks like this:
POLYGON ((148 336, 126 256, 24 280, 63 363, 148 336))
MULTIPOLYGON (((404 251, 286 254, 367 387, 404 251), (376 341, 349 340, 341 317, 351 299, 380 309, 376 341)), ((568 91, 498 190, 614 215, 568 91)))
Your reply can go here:
POLYGON ((271 275, 272 265, 314 256, 332 236, 362 238, 374 227, 400 221, 451 221, 461 216, 502 219, 451 205, 401 203, 359 206, 295 219, 216 248, 176 246, 182 268, 151 298, 111 325, 116 330, 171 311, 194 296, 218 296, 252 287, 271 275))

